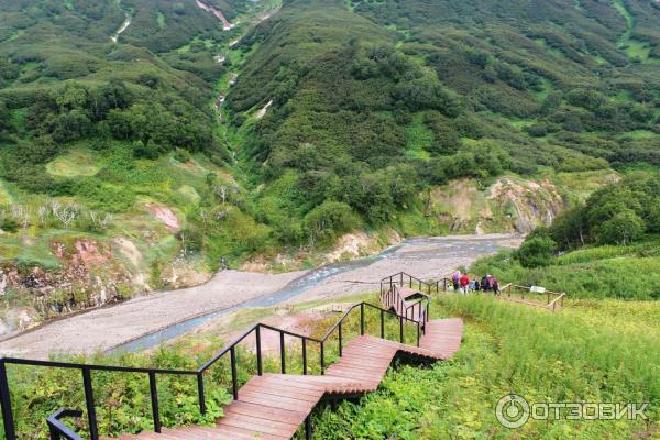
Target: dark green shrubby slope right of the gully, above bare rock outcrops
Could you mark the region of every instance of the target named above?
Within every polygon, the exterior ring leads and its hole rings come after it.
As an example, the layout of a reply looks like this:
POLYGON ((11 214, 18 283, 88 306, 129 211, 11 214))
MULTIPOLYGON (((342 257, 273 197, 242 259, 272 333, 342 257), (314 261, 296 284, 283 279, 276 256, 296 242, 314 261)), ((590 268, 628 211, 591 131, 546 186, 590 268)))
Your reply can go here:
MULTIPOLYGON (((628 3, 630 14, 658 14, 628 3)), ((660 78, 616 45, 628 32, 650 47, 658 33, 640 37, 646 21, 629 23, 617 4, 286 2, 240 43, 256 50, 227 107, 254 184, 288 198, 265 223, 277 231, 277 219, 301 221, 332 199, 377 228, 462 176, 658 164, 660 78)))

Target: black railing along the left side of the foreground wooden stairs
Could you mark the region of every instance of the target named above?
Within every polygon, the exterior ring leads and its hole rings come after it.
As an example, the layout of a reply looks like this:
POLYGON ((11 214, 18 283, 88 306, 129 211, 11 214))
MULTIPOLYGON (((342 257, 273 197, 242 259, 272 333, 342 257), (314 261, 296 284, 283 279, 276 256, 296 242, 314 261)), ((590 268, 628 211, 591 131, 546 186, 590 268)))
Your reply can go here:
MULTIPOLYGON (((305 334, 294 333, 287 330, 278 329, 275 327, 271 327, 264 323, 257 323, 252 327, 250 330, 244 332, 242 336, 237 338, 232 343, 227 345, 222 351, 220 351, 213 359, 209 362, 200 366, 198 370, 167 370, 167 369, 144 369, 144 367, 131 367, 131 366, 112 366, 112 365, 95 365, 95 364, 82 364, 82 363, 68 363, 68 362, 54 362, 54 361, 37 361, 37 360, 26 360, 26 359, 13 359, 13 358, 3 358, 0 359, 0 406, 2 408, 2 419, 4 425, 4 437, 7 440, 16 440, 15 433, 15 425, 13 420, 13 411, 11 405, 11 396, 10 396, 10 384, 7 375, 7 365, 30 365, 30 366, 38 366, 38 367, 50 367, 50 369, 68 369, 68 370, 78 370, 82 380, 82 387, 85 391, 85 407, 87 413, 87 419, 89 425, 89 436, 91 440, 99 440, 99 429, 98 421, 96 415, 96 402, 95 402, 95 393, 91 381, 91 373, 97 371, 103 372, 117 372, 117 373, 139 373, 144 374, 148 378, 150 383, 150 394, 151 394, 151 406, 152 406, 152 418, 153 418, 153 427, 155 432, 161 432, 161 416, 160 416, 160 407, 158 407, 158 389, 157 389, 157 376, 158 375, 177 375, 177 376, 196 376, 197 377, 197 391, 199 398, 199 409, 201 414, 206 414, 206 397, 205 397, 205 383, 204 383, 204 374, 211 366, 213 366, 218 361, 229 355, 230 364, 231 364, 231 391, 234 399, 239 398, 239 376, 238 376, 238 367, 237 367, 237 345, 245 340, 248 337, 254 334, 256 342, 256 371, 261 376, 263 375, 263 356, 262 356, 262 329, 271 330, 275 332, 279 332, 279 355, 280 355, 280 371, 283 374, 286 374, 286 345, 285 345, 285 337, 297 338, 301 341, 301 356, 302 356, 302 374, 308 374, 308 345, 310 343, 316 343, 319 345, 320 352, 320 372, 324 374, 326 372, 326 344, 330 337, 338 333, 339 339, 339 355, 342 355, 342 346, 344 334, 342 331, 342 327, 344 321, 353 314, 355 310, 360 311, 360 334, 365 334, 365 309, 371 308, 380 311, 380 337, 385 339, 385 316, 394 315, 398 319, 399 327, 399 342, 405 342, 404 337, 404 324, 413 323, 417 326, 417 345, 419 345, 420 334, 426 332, 426 322, 428 321, 428 305, 426 306, 426 311, 419 315, 420 319, 411 319, 406 316, 400 316, 395 311, 362 301, 353 305, 349 310, 346 310, 342 317, 332 326, 322 338, 317 339, 305 334)), ((64 410, 58 411, 54 416, 48 419, 48 426, 51 427, 53 422, 54 429, 57 431, 57 435, 61 437, 69 438, 66 436, 70 436, 72 431, 67 431, 67 428, 59 422, 59 418, 62 417, 81 417, 77 416, 78 411, 73 410, 64 410), (57 417, 56 417, 57 416, 57 417)), ((57 439, 57 437, 55 437, 57 439)), ((74 437, 75 440, 78 440, 78 437, 74 437)))

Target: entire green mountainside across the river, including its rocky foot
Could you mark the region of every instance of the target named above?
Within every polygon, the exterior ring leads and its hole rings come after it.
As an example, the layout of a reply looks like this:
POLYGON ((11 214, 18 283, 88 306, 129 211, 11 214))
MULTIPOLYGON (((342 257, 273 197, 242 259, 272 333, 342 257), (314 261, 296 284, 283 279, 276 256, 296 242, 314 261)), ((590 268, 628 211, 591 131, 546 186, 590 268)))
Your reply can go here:
POLYGON ((0 0, 4 298, 47 316, 356 229, 527 232, 659 165, 658 23, 651 0, 0 0))

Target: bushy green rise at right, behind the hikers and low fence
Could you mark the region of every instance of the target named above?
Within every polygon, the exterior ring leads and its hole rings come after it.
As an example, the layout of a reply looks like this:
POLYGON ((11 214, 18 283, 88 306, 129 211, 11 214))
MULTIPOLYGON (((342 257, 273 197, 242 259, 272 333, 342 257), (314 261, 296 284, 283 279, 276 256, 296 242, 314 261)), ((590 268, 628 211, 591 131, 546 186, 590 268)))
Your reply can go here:
POLYGON ((659 299, 659 216, 658 174, 637 172, 473 270, 572 298, 659 299))

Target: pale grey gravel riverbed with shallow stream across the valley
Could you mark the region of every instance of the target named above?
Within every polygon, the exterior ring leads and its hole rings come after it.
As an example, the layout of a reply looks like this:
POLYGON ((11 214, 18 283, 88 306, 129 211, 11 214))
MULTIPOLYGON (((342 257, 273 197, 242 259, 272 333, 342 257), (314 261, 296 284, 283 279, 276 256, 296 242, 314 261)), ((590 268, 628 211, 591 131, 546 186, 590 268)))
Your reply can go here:
POLYGON ((413 239, 373 260, 344 263, 339 268, 285 274, 223 271, 201 286, 139 297, 52 322, 1 342, 0 354, 46 359, 52 354, 107 351, 205 315, 220 316, 228 309, 375 290, 383 277, 400 271, 420 278, 439 278, 457 266, 468 266, 501 248, 517 244, 519 238, 505 234, 413 239))

